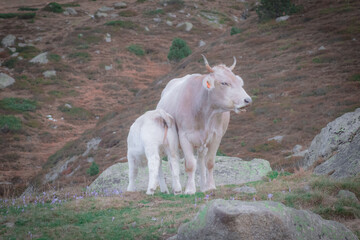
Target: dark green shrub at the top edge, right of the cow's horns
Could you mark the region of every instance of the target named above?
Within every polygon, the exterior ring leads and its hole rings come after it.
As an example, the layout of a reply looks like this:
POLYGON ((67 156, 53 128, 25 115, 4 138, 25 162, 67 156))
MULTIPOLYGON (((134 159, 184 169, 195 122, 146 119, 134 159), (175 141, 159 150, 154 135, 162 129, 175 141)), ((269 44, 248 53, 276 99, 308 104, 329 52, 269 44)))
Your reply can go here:
POLYGON ((260 21, 290 15, 300 10, 291 0, 261 0, 256 8, 260 21))

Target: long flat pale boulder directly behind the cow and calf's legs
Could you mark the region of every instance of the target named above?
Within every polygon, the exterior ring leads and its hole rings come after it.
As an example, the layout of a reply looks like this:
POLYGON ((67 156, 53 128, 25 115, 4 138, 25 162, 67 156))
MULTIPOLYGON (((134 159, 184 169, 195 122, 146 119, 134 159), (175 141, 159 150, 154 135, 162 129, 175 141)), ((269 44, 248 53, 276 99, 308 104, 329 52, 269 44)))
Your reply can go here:
MULTIPOLYGON (((180 161, 180 182, 185 186, 187 176, 185 174, 184 160, 180 161)), ((165 181, 171 186, 171 173, 168 162, 162 162, 162 169, 165 181)), ((253 159, 243 161, 236 157, 216 157, 214 178, 216 185, 242 184, 246 182, 258 181, 271 171, 268 161, 263 159, 253 159)), ((89 186, 88 190, 97 192, 126 191, 128 185, 129 167, 128 163, 117 163, 106 169, 89 186)), ((199 173, 196 173, 196 185, 199 186, 199 173)), ((148 168, 139 168, 136 179, 137 190, 145 191, 148 184, 148 168)))

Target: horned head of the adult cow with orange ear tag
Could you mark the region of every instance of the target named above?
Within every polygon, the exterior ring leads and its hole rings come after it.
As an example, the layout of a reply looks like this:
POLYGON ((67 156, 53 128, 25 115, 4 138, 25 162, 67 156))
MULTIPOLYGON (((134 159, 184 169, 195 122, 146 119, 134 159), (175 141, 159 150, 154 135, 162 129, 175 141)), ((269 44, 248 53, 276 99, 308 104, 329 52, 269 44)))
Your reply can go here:
POLYGON ((248 106, 252 99, 243 88, 244 81, 232 72, 236 65, 236 58, 234 57, 231 67, 225 65, 210 67, 205 56, 202 56, 209 71, 202 84, 206 90, 210 91, 212 103, 222 110, 233 110, 236 113, 248 106))

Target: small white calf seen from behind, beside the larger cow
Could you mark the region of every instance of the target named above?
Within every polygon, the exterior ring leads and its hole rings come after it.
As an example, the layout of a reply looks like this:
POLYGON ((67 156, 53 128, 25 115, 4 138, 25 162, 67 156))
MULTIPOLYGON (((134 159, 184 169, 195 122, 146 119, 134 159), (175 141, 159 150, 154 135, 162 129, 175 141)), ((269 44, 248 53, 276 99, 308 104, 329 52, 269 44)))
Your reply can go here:
POLYGON ((168 156, 174 194, 181 193, 179 179, 179 140, 173 117, 164 110, 148 111, 131 125, 128 139, 129 185, 127 191, 135 191, 138 167, 149 167, 149 183, 146 194, 154 194, 158 183, 161 192, 169 193, 161 169, 163 153, 168 156))

